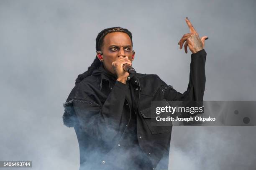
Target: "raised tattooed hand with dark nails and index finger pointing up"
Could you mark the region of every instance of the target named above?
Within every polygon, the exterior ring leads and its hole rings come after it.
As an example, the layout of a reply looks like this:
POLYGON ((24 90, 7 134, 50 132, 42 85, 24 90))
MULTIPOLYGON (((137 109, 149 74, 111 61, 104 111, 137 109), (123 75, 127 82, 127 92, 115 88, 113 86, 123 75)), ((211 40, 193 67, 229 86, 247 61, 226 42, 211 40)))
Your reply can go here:
POLYGON ((198 51, 202 50, 205 46, 205 40, 208 39, 207 36, 203 36, 202 38, 199 37, 197 31, 193 27, 192 23, 190 23, 189 19, 185 18, 186 23, 189 27, 190 33, 184 34, 182 38, 179 40, 179 49, 182 49, 184 44, 185 53, 187 53, 187 46, 192 53, 197 53, 198 51))

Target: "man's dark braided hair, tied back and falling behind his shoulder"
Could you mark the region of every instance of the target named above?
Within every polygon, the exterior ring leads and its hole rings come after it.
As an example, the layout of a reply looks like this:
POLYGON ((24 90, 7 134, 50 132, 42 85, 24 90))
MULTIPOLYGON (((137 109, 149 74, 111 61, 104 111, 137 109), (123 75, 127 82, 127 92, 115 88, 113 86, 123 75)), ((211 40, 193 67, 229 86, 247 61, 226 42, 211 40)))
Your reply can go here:
MULTIPOLYGON (((101 51, 101 48, 103 46, 104 37, 108 33, 114 33, 114 32, 123 32, 123 33, 128 34, 128 36, 131 38, 131 43, 133 46, 132 33, 129 30, 127 30, 125 28, 121 28, 121 27, 111 27, 111 28, 106 28, 106 29, 100 31, 100 33, 98 34, 98 36, 96 38, 96 51, 101 51)), ((101 62, 96 56, 96 58, 94 59, 94 61, 91 64, 91 66, 88 67, 88 70, 85 71, 83 74, 79 74, 77 76, 76 85, 79 82, 81 82, 83 79, 85 79, 87 76, 90 76, 95 69, 99 68, 100 64, 101 64, 101 62)))

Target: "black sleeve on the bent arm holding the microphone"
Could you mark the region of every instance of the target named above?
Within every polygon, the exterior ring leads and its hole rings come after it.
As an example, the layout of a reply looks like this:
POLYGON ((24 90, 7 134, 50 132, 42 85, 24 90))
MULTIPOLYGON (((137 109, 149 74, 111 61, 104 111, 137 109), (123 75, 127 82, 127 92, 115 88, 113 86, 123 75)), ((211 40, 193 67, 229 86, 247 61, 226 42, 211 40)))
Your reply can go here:
POLYGON ((120 132, 120 127, 124 127, 120 122, 125 102, 124 91, 128 90, 128 86, 116 81, 102 106, 90 96, 80 99, 79 96, 84 96, 85 93, 83 89, 88 88, 83 86, 83 84, 79 85, 77 94, 69 101, 77 118, 79 129, 89 136, 97 137, 98 140, 113 140, 120 132))

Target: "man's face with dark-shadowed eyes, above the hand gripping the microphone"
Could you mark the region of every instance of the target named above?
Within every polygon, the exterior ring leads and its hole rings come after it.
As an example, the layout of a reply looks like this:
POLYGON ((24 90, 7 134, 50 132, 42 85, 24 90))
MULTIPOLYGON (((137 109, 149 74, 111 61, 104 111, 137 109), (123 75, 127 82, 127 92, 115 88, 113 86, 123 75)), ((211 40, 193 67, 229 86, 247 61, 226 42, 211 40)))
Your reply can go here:
POLYGON ((108 33, 103 40, 102 53, 105 69, 115 74, 112 66, 113 61, 125 56, 128 56, 129 60, 133 61, 131 38, 128 34, 122 32, 108 33))

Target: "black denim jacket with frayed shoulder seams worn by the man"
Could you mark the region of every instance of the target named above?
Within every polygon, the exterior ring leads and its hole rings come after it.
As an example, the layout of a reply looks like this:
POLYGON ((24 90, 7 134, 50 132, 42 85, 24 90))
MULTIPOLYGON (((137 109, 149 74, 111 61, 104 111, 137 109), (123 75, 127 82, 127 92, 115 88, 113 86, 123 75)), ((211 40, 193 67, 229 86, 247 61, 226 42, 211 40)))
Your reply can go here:
MULTIPOLYGON (((151 101, 203 101, 205 91, 206 52, 191 55, 189 84, 183 94, 153 74, 128 77, 133 99, 132 109, 125 99, 126 84, 115 76, 95 70, 72 89, 64 104, 64 124, 74 127, 80 150, 82 169, 123 169, 113 154, 118 153, 129 119, 136 114, 139 146, 156 167, 164 154, 169 154, 172 127, 151 126, 151 101)), ((168 162, 167 162, 168 165, 168 162)))

